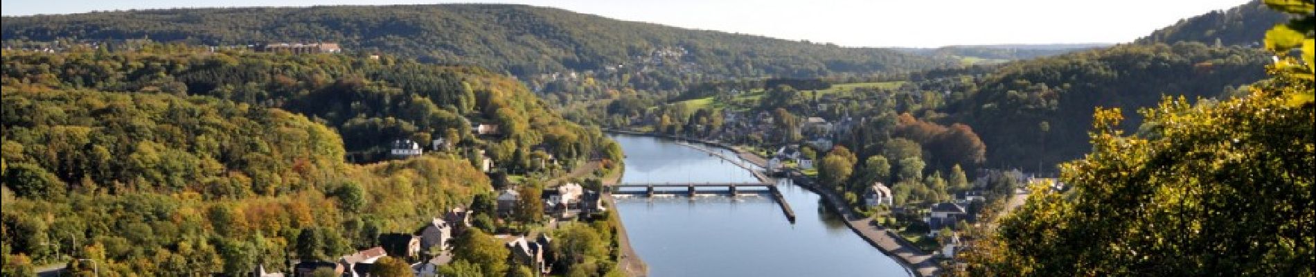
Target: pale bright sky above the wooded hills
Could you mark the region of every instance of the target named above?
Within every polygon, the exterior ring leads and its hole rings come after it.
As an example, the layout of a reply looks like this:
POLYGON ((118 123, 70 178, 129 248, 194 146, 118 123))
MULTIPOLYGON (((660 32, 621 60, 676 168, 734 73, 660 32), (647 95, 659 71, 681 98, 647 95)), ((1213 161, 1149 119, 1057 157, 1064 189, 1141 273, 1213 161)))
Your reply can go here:
MULTIPOLYGON (((197 7, 437 4, 415 0, 0 0, 4 16, 197 7)), ((461 0, 457 3, 484 3, 461 0)), ((851 47, 1121 43, 1246 0, 500 0, 626 21, 851 47)))

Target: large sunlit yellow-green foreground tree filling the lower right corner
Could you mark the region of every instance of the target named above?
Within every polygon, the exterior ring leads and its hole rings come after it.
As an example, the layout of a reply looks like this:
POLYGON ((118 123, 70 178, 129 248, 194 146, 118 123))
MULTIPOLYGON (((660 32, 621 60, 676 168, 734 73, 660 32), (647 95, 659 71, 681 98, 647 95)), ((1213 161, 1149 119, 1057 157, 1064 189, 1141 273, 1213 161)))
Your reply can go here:
POLYGON ((969 260, 983 276, 1311 276, 1316 105, 1311 79, 1273 70, 1249 97, 1145 109, 1140 135, 1099 109, 1092 154, 1036 188, 969 260), (1307 147, 1294 147, 1295 144, 1307 147))

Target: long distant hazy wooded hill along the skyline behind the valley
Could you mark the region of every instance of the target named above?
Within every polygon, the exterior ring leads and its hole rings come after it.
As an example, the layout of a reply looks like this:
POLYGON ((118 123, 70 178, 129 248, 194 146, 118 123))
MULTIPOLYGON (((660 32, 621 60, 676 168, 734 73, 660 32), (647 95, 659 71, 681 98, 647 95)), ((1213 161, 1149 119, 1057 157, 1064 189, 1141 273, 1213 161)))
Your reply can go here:
POLYGON ((629 22, 555 8, 491 4, 222 8, 5 17, 4 39, 340 42, 517 76, 649 67, 704 76, 822 76, 924 70, 953 60, 629 22))

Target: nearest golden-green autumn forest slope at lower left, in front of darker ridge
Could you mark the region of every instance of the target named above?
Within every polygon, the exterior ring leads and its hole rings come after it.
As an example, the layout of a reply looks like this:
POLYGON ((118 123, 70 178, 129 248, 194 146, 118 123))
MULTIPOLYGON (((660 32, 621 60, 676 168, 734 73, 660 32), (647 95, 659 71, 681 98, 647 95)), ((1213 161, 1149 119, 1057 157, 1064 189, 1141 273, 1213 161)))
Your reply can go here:
POLYGON ((107 276, 283 268, 407 232, 491 190, 465 159, 346 164, 333 130, 279 109, 24 85, 3 98, 13 274, 70 253, 107 276))

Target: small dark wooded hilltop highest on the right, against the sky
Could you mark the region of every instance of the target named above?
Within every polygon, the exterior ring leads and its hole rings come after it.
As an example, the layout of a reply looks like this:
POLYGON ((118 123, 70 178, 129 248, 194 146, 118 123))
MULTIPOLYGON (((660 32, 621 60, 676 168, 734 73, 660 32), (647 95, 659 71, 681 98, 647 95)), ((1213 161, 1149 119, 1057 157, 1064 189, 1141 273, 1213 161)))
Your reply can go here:
POLYGON ((1290 17, 1284 13, 1266 8, 1261 0, 1253 0, 1229 11, 1212 11, 1180 20, 1175 25, 1140 38, 1137 43, 1202 42, 1215 45, 1219 41, 1223 46, 1254 46, 1266 35, 1266 30, 1287 18, 1290 17))

